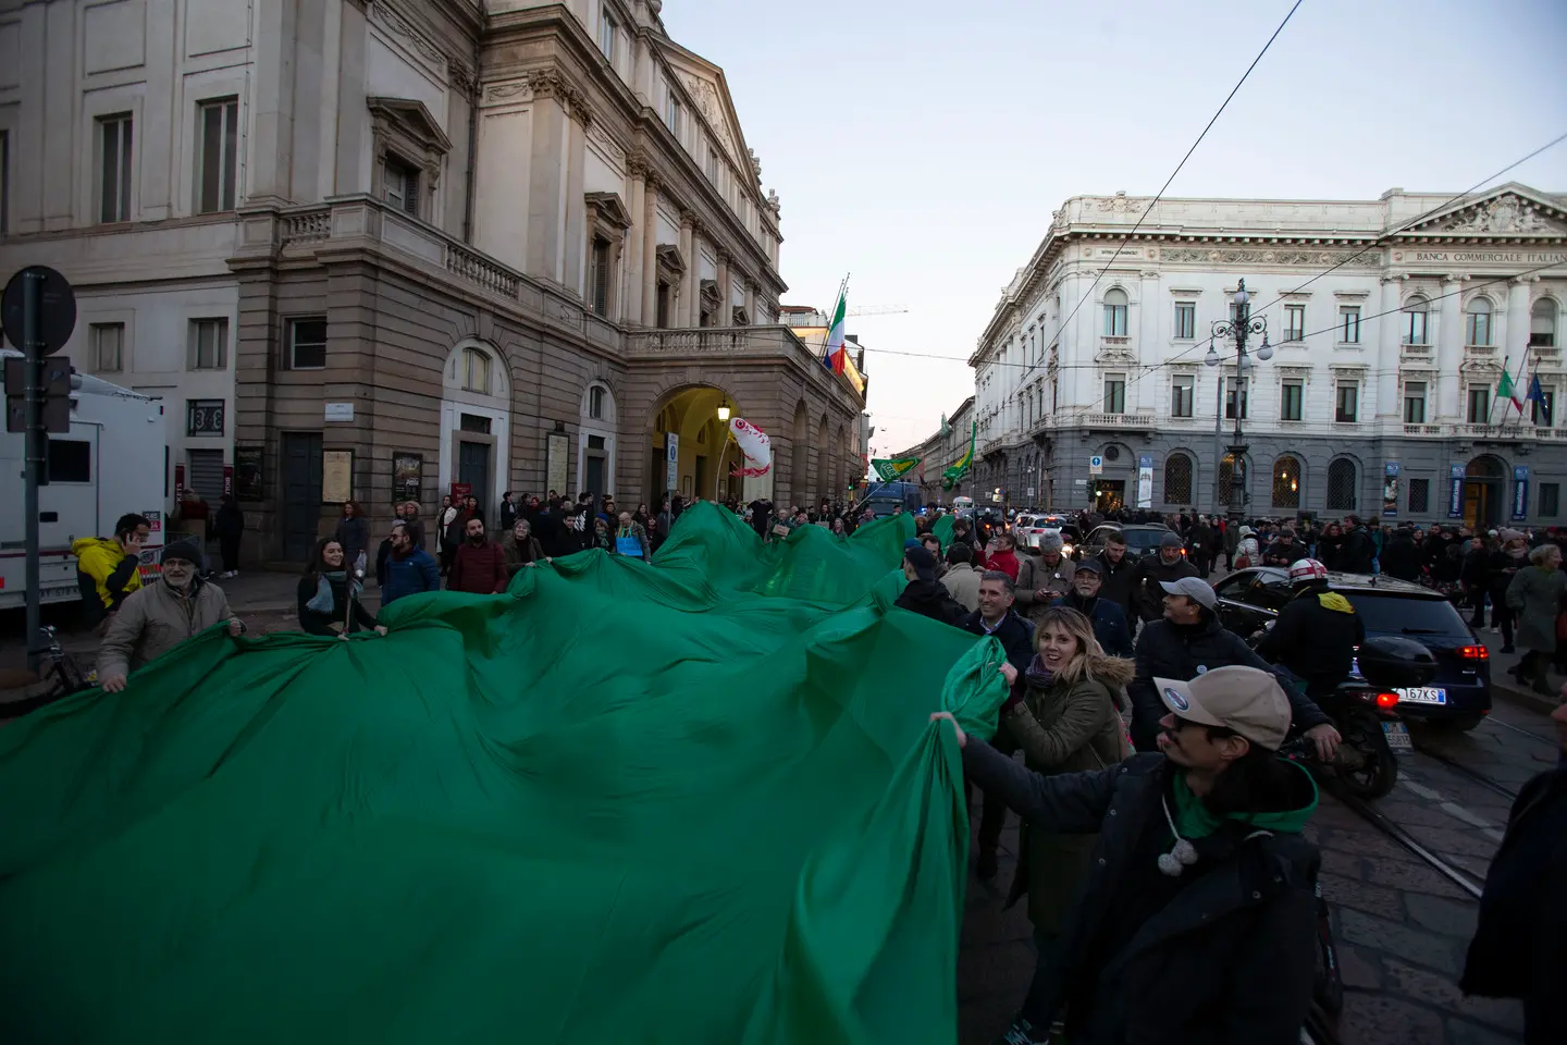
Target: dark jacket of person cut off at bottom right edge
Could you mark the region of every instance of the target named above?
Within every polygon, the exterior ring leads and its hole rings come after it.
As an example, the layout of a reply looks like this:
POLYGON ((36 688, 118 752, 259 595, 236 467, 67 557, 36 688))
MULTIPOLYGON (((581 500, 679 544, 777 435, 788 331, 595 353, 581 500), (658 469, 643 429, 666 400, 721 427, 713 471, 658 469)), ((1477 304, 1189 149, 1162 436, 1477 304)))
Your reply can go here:
POLYGON ((1567 1042, 1567 765, 1518 793, 1486 874, 1464 993, 1523 998, 1529 1045, 1567 1042))

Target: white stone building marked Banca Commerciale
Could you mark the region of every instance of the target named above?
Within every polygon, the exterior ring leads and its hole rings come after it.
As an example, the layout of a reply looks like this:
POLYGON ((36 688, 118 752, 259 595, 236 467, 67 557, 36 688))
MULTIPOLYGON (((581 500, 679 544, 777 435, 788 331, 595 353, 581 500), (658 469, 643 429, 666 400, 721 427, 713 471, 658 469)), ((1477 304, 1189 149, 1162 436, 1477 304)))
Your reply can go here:
POLYGON ((1561 519, 1567 197, 1448 199, 1164 199, 1125 248, 1147 199, 1069 199, 970 359, 975 486, 1053 508, 1089 489, 1100 506, 1225 504, 1233 340, 1205 357, 1244 279, 1274 349, 1241 381, 1249 514, 1561 519), (1503 360, 1520 396, 1539 376, 1545 407, 1498 403, 1503 360))

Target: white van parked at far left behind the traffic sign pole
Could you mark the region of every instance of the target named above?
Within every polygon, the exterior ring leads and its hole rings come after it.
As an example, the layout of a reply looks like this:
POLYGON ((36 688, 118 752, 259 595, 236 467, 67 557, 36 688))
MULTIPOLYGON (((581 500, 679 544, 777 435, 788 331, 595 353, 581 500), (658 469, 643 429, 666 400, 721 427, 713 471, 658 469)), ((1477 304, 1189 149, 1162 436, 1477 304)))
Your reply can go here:
MULTIPOLYGON (((163 404, 91 374, 72 374, 71 385, 71 431, 49 437, 49 486, 38 490, 41 603, 80 597, 71 542, 111 537, 127 512, 152 522, 141 551, 144 581, 163 548, 163 404)), ((0 475, 11 490, 0 497, 0 609, 27 602, 25 443, 20 432, 0 434, 0 475)))

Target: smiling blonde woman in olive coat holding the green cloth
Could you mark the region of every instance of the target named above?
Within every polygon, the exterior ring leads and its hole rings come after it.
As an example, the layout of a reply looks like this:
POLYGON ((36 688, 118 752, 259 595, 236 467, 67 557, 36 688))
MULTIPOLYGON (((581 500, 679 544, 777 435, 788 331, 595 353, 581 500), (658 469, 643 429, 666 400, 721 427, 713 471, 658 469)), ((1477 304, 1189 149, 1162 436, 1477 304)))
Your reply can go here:
MULTIPOLYGON (((1051 606, 1039 616, 1034 649, 1037 653, 1028 666, 1028 688, 1022 700, 1001 713, 1001 732, 1023 749, 1028 768, 1044 774, 1078 772, 1105 769, 1125 760, 1131 746, 1120 707, 1135 663, 1106 656, 1094 638, 1094 624, 1066 606, 1051 606)), ((1008 682, 1015 678, 1011 664, 1001 671, 1008 682)), ((1025 1026, 1042 1029, 1042 1020, 1048 1018, 1031 1003, 1050 993, 1055 940, 1066 924, 1097 841, 1098 835, 1023 829, 1023 854, 1008 902, 1028 893, 1028 918, 1034 923, 1039 948, 1034 982, 1019 1015, 1019 1023, 1025 1026)))

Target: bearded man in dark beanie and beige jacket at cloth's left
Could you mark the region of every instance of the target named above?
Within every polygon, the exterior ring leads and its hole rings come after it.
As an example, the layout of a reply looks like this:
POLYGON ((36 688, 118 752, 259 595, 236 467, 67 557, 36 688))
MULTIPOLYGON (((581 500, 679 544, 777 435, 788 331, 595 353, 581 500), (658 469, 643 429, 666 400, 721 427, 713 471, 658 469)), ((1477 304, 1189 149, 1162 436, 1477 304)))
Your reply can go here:
POLYGON ((194 541, 176 541, 163 550, 163 578, 138 588, 121 603, 99 649, 103 692, 121 692, 133 671, 215 624, 227 620, 230 636, 244 633, 244 624, 229 608, 229 597, 201 578, 202 564, 194 541))

